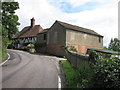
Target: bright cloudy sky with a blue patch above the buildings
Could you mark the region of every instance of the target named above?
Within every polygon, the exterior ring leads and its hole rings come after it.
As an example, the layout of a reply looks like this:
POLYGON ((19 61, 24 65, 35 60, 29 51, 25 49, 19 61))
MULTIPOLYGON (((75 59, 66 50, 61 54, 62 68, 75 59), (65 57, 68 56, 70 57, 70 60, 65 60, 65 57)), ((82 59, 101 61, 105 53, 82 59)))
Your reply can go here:
POLYGON ((103 45, 108 46, 111 38, 118 37, 119 0, 15 0, 19 2, 16 14, 19 30, 35 24, 49 28, 55 20, 92 29, 104 36, 103 45))

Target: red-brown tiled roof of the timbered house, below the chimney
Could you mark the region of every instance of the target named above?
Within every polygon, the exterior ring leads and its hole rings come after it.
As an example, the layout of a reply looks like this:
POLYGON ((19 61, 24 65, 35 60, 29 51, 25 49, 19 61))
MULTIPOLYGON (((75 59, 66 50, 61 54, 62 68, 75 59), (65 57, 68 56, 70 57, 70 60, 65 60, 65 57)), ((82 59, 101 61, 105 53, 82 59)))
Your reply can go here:
POLYGON ((35 25, 34 27, 27 26, 23 28, 18 34, 13 38, 25 38, 25 37, 35 37, 39 32, 42 32, 44 29, 40 25, 35 25))

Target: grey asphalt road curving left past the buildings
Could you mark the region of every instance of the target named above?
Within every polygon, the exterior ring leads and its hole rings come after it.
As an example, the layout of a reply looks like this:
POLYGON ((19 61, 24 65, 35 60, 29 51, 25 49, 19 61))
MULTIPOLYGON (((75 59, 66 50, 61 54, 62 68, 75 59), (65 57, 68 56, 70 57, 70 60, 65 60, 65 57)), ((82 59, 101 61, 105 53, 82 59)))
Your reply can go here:
POLYGON ((2 66, 2 88, 58 88, 59 65, 54 56, 8 50, 2 66))

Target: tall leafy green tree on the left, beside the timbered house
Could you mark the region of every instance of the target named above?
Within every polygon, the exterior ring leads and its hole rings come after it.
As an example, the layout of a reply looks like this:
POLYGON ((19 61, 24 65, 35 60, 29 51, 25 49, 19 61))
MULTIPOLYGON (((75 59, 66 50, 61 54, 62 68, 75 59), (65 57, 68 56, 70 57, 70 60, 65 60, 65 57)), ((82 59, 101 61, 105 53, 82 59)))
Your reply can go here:
POLYGON ((18 2, 2 2, 2 36, 9 40, 18 32, 20 25, 18 16, 15 15, 17 9, 19 9, 18 2))

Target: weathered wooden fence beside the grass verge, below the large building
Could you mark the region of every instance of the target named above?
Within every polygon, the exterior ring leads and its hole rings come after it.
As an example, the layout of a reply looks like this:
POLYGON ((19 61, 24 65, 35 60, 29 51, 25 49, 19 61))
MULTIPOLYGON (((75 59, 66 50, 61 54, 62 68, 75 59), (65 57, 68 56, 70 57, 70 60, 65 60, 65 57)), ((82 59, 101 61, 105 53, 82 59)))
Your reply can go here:
POLYGON ((87 62, 89 56, 66 51, 66 57, 73 67, 78 68, 82 62, 87 62))

